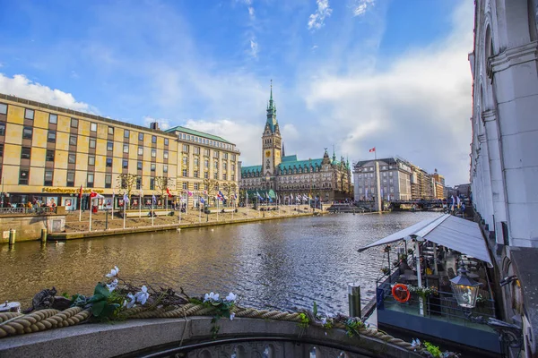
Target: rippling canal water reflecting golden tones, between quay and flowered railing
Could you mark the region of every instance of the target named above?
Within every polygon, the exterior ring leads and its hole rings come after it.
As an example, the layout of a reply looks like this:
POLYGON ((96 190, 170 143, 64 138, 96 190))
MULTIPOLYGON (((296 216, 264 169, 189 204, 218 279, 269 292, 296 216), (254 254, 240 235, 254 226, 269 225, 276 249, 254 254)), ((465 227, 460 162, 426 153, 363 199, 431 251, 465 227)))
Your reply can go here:
MULTIPOLYGON (((436 213, 298 217, 259 223, 133 234, 66 243, 0 246, 0 302, 30 304, 33 294, 91 294, 115 265, 136 283, 183 287, 191 296, 238 294, 260 309, 312 308, 347 314, 347 282, 359 282, 363 304, 386 266, 371 243, 436 213)), ((394 255, 395 259, 395 255, 394 255)), ((392 259, 391 259, 392 260, 392 259)))

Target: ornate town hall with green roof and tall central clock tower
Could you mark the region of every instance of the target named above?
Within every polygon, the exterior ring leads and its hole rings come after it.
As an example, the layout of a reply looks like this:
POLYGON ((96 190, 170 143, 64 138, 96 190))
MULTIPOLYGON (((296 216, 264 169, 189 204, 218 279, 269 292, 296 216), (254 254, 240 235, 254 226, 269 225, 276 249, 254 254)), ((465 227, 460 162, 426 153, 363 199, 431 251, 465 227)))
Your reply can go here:
POLYGON ((267 106, 267 119, 262 134, 262 165, 241 166, 239 187, 249 192, 275 192, 281 202, 291 196, 311 196, 322 201, 352 198, 351 167, 349 161, 330 158, 327 150, 323 158, 299 160, 286 156, 276 119, 273 86, 267 106))

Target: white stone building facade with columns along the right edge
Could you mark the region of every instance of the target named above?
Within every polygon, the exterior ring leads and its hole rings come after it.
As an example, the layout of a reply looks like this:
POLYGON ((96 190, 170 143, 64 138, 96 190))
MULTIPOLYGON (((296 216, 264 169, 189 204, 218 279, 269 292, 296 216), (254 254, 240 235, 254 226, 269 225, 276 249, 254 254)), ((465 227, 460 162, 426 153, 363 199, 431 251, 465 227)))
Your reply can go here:
MULTIPOLYGON (((504 319, 523 328, 524 357, 538 356, 538 3, 476 0, 471 192, 490 238, 504 319), (534 258, 534 259, 533 259, 534 258), (535 268, 534 268, 535 272, 535 268)), ((517 355, 517 354, 515 354, 517 355)))

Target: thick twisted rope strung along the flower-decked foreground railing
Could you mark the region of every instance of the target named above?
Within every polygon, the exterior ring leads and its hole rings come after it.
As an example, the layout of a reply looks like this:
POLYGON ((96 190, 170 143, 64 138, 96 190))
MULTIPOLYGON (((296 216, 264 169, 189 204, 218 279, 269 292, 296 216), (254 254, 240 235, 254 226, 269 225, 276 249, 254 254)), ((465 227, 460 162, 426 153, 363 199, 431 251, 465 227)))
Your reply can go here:
MULTIPOLYGON (((152 318, 184 318, 189 316, 211 316, 215 311, 214 307, 205 307, 203 304, 187 303, 183 306, 175 306, 173 309, 136 306, 121 312, 123 319, 152 319, 152 318)), ((282 311, 265 311, 253 308, 233 307, 231 310, 235 317, 253 318, 263 320, 287 320, 291 322, 301 322, 299 313, 288 313, 282 311)), ((51 328, 74 326, 87 320, 91 315, 91 309, 82 310, 80 307, 68 308, 65 311, 41 310, 23 315, 16 312, 0 313, 0 338, 7 336, 22 335, 25 333, 39 332, 51 328)), ((323 327, 319 322, 311 322, 312 326, 323 327)), ((335 323, 334 328, 345 329, 341 322, 335 323)), ((391 345, 397 345, 410 351, 415 347, 409 342, 395 338, 378 331, 376 328, 358 328, 358 333, 362 336, 380 339, 391 345)))

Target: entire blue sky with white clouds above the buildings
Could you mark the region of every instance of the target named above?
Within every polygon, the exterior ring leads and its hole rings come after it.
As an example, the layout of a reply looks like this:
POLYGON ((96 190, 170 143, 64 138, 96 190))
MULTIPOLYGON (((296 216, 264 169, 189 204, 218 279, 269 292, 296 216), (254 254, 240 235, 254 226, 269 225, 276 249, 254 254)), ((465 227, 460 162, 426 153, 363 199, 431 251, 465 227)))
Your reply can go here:
POLYGON ((469 182, 473 1, 0 0, 0 92, 211 132, 261 162, 400 156, 469 182))

